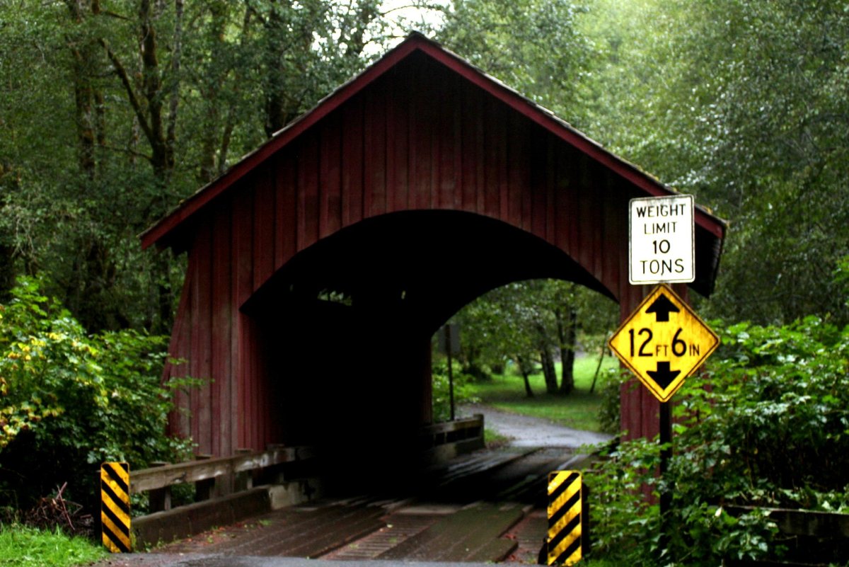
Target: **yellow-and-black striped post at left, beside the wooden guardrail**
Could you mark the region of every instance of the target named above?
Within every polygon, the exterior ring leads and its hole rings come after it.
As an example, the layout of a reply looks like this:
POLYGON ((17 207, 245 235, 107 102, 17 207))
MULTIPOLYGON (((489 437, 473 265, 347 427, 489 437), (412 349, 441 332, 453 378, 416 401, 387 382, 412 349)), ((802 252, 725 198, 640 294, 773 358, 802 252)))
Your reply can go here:
POLYGON ((104 547, 112 553, 130 552, 128 463, 103 463, 100 466, 100 525, 104 547))

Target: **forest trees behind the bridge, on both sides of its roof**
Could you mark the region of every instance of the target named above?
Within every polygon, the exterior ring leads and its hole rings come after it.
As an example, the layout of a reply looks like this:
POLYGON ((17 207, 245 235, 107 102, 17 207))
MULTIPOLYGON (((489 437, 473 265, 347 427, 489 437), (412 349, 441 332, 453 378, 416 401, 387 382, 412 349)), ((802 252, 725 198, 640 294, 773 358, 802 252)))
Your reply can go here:
POLYGON ((169 333, 184 258, 138 234, 419 28, 728 220, 704 316, 846 322, 845 3, 411 4, 3 0, 0 298, 169 333))

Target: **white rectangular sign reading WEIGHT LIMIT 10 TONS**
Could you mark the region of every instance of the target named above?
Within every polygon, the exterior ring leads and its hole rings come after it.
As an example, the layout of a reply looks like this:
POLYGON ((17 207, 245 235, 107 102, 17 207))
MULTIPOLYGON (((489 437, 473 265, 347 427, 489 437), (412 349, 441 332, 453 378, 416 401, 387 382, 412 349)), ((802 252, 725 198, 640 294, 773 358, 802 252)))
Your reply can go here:
POLYGON ((631 199, 628 280, 689 283, 695 280, 693 195, 631 199))

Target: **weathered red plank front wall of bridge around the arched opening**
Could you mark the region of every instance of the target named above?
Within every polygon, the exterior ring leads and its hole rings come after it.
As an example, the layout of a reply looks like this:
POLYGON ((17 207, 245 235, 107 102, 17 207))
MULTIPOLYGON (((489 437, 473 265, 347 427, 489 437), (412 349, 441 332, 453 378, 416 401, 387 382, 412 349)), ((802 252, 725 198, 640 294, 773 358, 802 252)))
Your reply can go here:
MULTIPOLYGON (((621 203, 643 195, 453 72, 416 59, 323 116, 201 214, 171 340, 171 354, 191 361, 171 373, 205 380, 180 400, 190 415, 171 424, 200 452, 278 440, 282 401, 272 396, 260 329, 239 306, 296 252, 364 218, 413 209, 498 218, 565 250, 623 313, 642 298, 626 277, 621 203)), ((643 390, 623 394, 633 435, 656 430, 656 403, 643 390)))

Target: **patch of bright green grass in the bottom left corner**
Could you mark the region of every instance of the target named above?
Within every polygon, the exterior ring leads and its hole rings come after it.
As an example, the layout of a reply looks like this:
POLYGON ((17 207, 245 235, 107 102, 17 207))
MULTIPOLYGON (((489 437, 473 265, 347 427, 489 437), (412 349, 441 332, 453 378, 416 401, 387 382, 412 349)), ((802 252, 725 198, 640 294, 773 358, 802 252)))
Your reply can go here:
POLYGON ((4 567, 72 567, 104 557, 104 549, 84 537, 20 524, 0 526, 0 565, 4 567))

